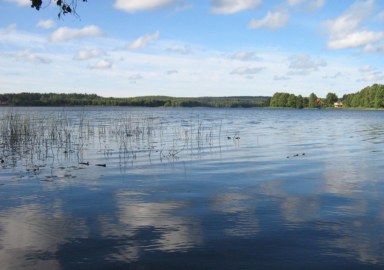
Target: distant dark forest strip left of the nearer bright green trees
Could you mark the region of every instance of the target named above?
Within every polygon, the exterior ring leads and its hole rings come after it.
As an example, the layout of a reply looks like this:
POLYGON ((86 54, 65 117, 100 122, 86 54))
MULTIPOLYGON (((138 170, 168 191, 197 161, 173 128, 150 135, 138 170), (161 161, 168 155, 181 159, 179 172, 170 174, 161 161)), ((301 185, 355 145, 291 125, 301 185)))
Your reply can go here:
POLYGON ((229 107, 250 108, 269 106, 268 96, 175 98, 142 96, 105 98, 96 94, 8 93, 0 94, 0 103, 10 106, 145 106, 145 107, 229 107))

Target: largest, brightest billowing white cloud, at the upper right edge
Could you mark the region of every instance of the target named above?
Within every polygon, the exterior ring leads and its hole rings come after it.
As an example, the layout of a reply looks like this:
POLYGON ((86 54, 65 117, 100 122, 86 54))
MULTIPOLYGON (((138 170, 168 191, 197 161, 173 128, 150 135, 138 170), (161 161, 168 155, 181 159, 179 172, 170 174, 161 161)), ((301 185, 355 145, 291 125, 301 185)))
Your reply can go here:
POLYGON ((321 25, 329 32, 327 47, 332 50, 354 48, 384 39, 383 32, 360 27, 374 10, 374 0, 356 1, 336 19, 323 21, 321 25))

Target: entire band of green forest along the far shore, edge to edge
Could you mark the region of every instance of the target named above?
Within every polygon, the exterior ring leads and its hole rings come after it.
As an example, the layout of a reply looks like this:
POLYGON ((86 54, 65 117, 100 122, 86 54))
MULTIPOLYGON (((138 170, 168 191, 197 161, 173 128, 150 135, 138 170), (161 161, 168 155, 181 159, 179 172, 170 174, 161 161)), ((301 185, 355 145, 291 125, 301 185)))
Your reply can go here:
POLYGON ((143 106, 143 107, 284 107, 319 108, 334 107, 334 102, 343 102, 349 108, 384 108, 384 85, 373 84, 357 93, 344 94, 339 98, 329 92, 325 98, 314 93, 309 97, 300 94, 276 92, 269 96, 225 96, 200 98, 175 98, 170 96, 138 96, 135 98, 104 98, 96 94, 57 93, 9 93, 0 94, 0 104, 10 106, 143 106))

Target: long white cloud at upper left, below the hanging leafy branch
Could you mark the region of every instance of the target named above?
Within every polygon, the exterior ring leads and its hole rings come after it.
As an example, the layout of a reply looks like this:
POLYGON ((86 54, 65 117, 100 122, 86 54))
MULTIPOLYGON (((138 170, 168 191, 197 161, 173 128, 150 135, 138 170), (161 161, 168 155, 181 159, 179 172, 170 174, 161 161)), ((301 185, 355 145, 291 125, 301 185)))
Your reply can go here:
POLYGON ((50 42, 67 41, 73 38, 85 38, 95 36, 105 36, 106 34, 96 25, 89 25, 83 29, 60 27, 58 30, 51 33, 48 38, 50 42))

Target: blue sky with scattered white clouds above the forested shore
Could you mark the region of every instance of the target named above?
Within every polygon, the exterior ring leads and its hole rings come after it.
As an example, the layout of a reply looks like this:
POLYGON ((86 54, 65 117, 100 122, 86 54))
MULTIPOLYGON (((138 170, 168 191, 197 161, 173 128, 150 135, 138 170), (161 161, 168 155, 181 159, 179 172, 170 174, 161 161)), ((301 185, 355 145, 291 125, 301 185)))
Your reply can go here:
POLYGON ((384 83, 384 0, 78 0, 63 20, 55 1, 0 5, 0 93, 325 98, 384 83))

